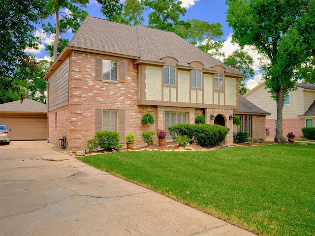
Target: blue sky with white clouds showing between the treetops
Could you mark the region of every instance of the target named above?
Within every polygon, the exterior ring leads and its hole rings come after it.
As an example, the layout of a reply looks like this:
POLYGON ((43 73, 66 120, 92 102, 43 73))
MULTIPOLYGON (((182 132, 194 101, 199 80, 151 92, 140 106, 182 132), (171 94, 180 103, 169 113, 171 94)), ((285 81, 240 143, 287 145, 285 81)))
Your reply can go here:
MULTIPOLYGON (((222 51, 225 53, 225 56, 231 54, 234 50, 237 49, 237 45, 231 44, 231 34, 233 33, 233 29, 228 27, 226 22, 226 10, 227 5, 225 5, 225 0, 182 0, 182 6, 187 9, 187 13, 185 16, 181 17, 181 20, 186 19, 198 19, 201 21, 207 21, 209 23, 220 22, 223 29, 222 39, 226 40, 223 45, 222 51)), ((90 0, 88 7, 85 8, 90 16, 105 18, 103 14, 100 12, 100 5, 96 2, 96 0, 90 0)), ((148 18, 146 14, 149 12, 145 12, 145 25, 148 24, 148 18)), ((54 19, 47 19, 47 21, 54 22, 54 19)), ((46 35, 42 31, 41 25, 37 26, 37 30, 35 32, 36 36, 41 37, 41 45, 39 50, 27 50, 28 53, 34 55, 37 59, 48 59, 47 52, 45 52, 45 44, 51 44, 53 35, 46 35)), ((62 35, 63 38, 71 39, 73 36, 72 32, 67 32, 66 35, 62 35)), ((254 58, 254 70, 255 76, 247 81, 247 86, 252 89, 254 86, 258 85, 261 79, 261 75, 258 73, 259 61, 257 60, 258 55, 253 51, 249 50, 249 53, 254 58)))

